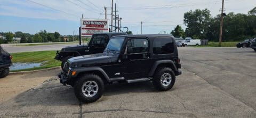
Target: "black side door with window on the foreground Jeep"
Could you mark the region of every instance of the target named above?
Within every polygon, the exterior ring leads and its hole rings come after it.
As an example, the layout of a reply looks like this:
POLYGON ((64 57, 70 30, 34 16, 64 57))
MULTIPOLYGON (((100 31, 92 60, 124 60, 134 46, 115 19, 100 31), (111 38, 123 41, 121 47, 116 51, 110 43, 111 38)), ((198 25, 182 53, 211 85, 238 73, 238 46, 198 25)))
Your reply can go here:
POLYGON ((123 62, 124 78, 141 78, 147 76, 151 64, 149 39, 130 38, 127 40, 127 60, 123 62))

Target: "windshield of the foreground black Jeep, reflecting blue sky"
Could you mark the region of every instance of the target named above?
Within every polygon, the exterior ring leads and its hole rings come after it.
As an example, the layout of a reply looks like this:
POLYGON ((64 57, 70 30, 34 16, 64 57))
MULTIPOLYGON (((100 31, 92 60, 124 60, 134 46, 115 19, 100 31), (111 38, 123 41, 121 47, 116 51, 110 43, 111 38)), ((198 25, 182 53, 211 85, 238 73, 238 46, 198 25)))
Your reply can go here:
POLYGON ((124 42, 124 37, 111 38, 104 52, 119 52, 124 42))

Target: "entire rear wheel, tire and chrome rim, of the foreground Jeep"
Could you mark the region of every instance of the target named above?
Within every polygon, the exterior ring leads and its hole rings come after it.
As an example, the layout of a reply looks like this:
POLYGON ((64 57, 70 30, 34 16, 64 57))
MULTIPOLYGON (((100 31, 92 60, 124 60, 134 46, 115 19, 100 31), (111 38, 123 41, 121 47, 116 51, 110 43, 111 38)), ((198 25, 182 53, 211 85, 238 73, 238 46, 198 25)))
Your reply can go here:
POLYGON ((163 67, 156 70, 153 77, 153 85, 157 90, 170 90, 175 83, 175 74, 172 69, 163 67))

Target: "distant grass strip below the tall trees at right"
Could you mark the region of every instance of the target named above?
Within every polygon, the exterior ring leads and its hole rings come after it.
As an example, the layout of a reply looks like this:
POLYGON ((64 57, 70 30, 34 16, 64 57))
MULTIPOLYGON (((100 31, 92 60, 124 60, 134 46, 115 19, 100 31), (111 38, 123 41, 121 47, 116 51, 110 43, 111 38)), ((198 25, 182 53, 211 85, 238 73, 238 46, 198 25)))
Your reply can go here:
MULTIPOLYGON (((238 42, 222 42, 221 47, 236 47, 238 42)), ((193 47, 219 47, 219 42, 209 42, 207 46, 193 46, 193 47)))

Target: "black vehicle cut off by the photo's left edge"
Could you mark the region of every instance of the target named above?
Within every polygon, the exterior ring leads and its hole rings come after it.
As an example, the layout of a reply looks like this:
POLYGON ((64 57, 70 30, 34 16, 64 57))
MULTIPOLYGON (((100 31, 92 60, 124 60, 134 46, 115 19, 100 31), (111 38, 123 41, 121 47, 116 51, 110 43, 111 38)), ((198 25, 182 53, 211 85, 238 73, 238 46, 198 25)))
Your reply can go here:
POLYGON ((9 67, 12 65, 12 56, 0 46, 0 78, 9 74, 9 67))

